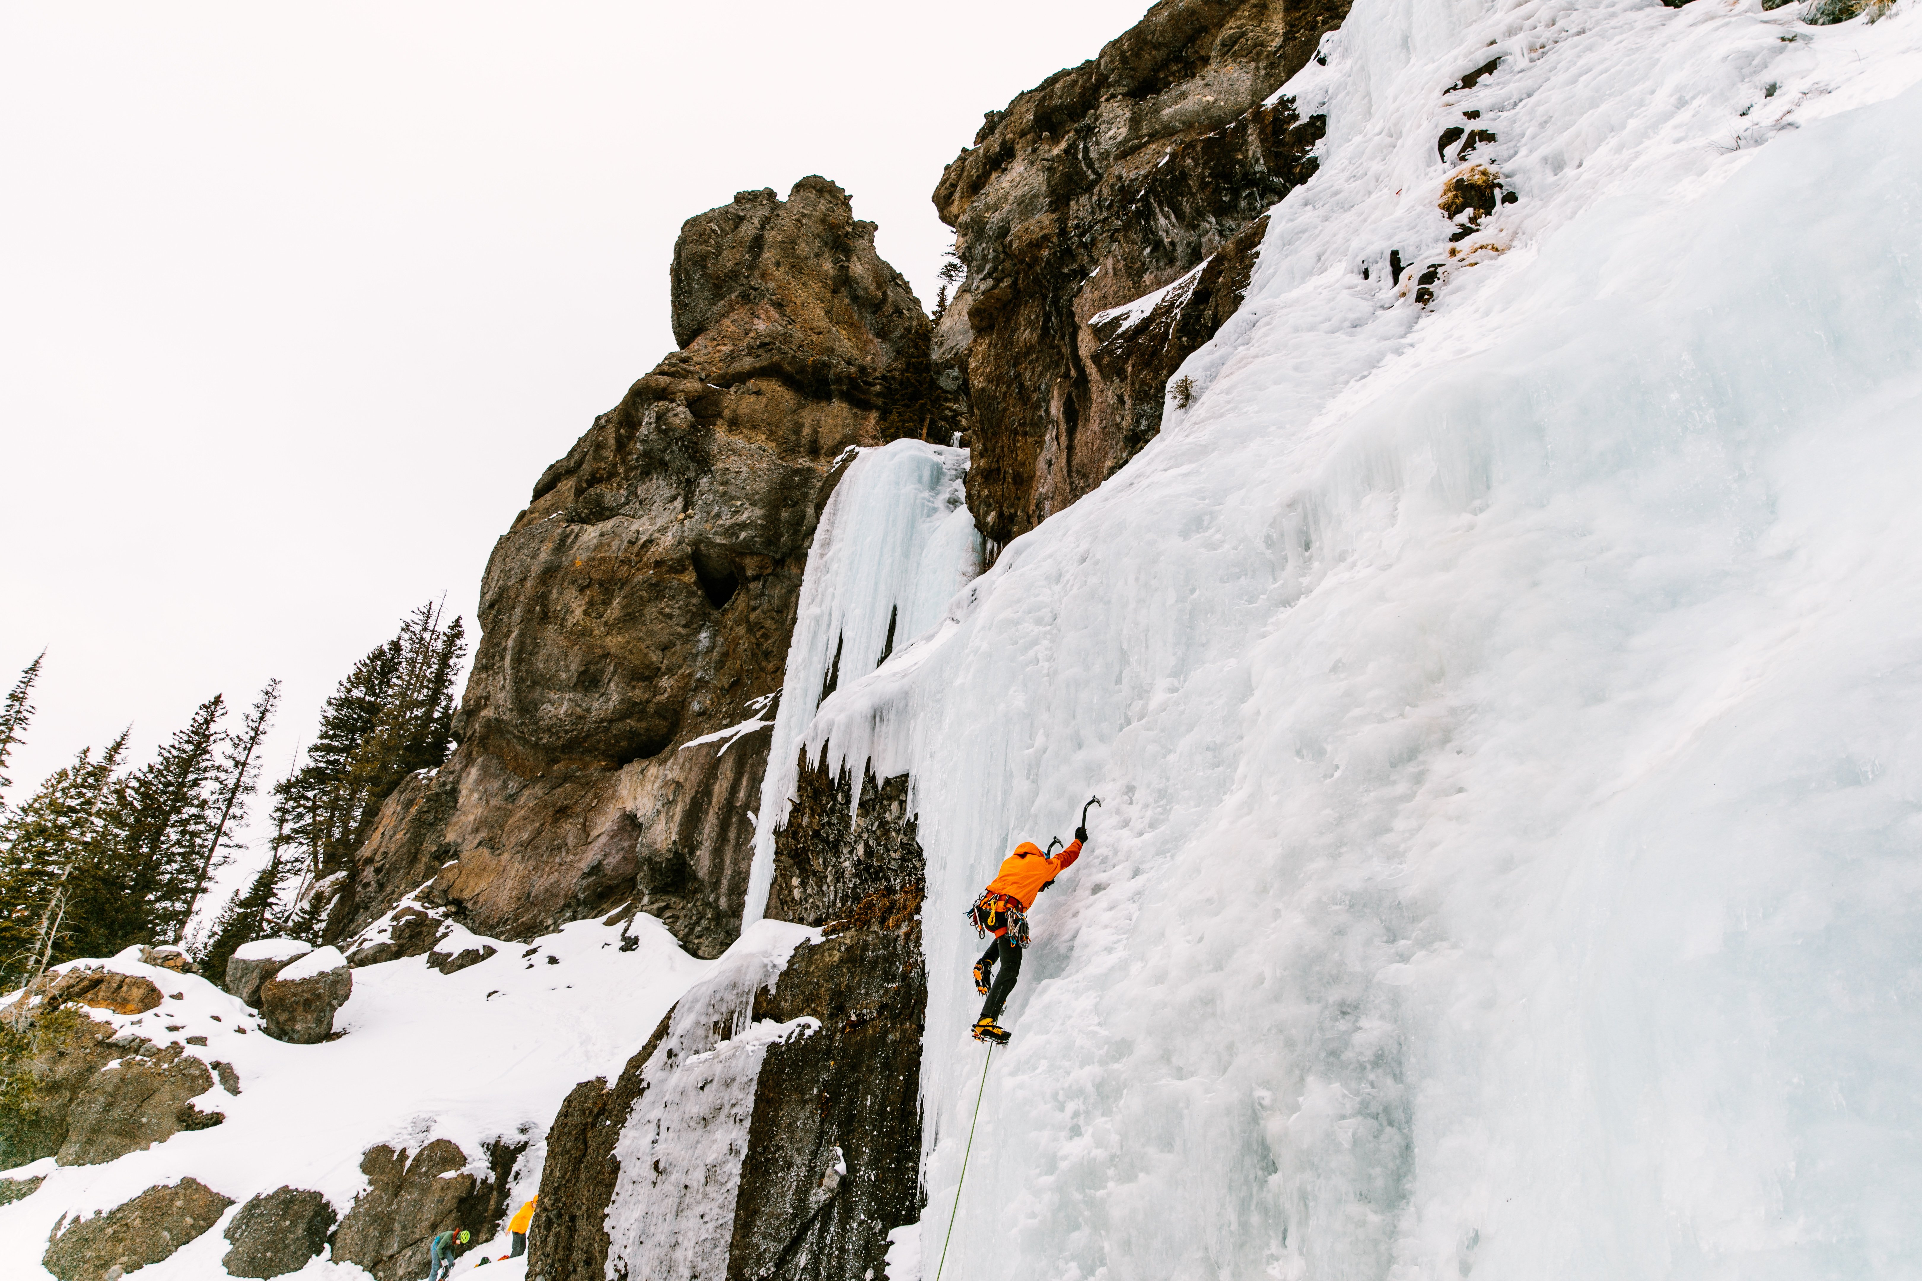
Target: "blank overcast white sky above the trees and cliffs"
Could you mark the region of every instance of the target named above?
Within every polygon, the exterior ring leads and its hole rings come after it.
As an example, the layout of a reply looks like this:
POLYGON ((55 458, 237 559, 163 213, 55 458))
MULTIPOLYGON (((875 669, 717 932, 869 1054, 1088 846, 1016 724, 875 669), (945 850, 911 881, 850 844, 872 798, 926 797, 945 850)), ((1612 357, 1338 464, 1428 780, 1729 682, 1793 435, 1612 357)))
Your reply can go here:
POLYGON ((932 305, 942 165, 1146 10, 0 0, 10 799, 269 676, 284 770, 673 350, 686 217, 826 175, 932 305))

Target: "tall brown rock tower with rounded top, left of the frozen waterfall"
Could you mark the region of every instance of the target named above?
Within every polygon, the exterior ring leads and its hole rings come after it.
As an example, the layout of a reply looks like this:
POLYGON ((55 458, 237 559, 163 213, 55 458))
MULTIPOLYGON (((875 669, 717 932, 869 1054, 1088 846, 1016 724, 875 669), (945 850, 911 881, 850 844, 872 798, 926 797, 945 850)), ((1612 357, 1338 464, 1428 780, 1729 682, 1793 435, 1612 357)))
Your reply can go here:
POLYGON ((949 428, 928 321, 832 182, 690 219, 671 286, 682 350, 494 547, 459 747, 382 807, 334 937, 432 878, 479 933, 646 899, 696 953, 732 941, 767 736, 690 743, 773 718, 842 449, 949 428))

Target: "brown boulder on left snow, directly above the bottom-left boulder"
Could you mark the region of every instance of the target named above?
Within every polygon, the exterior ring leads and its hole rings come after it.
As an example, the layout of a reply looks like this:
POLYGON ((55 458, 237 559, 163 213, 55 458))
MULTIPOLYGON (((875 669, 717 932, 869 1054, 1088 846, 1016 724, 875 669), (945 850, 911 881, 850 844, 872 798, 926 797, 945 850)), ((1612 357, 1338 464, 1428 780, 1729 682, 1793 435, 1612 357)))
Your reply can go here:
POLYGON ((177 1045, 123 1054, 94 1072, 67 1108, 67 1133, 56 1160, 62 1166, 104 1162, 165 1143, 183 1129, 208 1129, 225 1122, 221 1112, 202 1112, 194 1099, 213 1089, 208 1066, 177 1045))

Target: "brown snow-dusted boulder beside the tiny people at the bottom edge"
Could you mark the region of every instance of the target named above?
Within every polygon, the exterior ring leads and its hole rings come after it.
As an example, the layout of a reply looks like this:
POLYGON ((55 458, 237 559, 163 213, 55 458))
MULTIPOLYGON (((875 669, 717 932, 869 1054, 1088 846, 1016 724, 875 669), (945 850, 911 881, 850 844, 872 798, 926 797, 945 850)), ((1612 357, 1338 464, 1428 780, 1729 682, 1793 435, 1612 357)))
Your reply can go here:
POLYGON ((427 1275, 427 1243, 448 1229, 467 1229, 475 1243, 490 1241, 505 1210, 513 1164, 525 1145, 488 1145, 488 1177, 467 1170, 467 1154, 434 1139, 413 1160, 384 1143, 361 1156, 369 1187, 354 1198, 334 1233, 333 1260, 359 1264, 377 1281, 427 1275))

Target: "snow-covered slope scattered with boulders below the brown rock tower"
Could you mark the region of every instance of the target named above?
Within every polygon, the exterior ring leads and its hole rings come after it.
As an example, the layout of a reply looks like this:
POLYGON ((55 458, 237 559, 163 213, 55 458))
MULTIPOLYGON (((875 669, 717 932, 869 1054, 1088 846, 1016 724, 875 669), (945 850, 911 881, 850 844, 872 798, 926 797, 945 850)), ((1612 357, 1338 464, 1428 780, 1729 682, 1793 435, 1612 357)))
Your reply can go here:
MULTIPOLYGON (((231 1246, 223 1231, 250 1196, 283 1185, 313 1189, 346 1216, 369 1183, 361 1154, 381 1143, 417 1152, 434 1139, 452 1139, 480 1177, 488 1175, 484 1141, 527 1143, 507 1196, 509 1206, 519 1206, 538 1191, 546 1131, 567 1091, 619 1070, 690 985, 730 964, 688 956, 652 916, 636 914, 625 933, 636 941, 628 951, 621 951, 623 928, 598 920, 573 922, 532 943, 494 939, 494 956, 456 974, 431 970, 427 956, 361 966, 334 1020, 342 1035, 325 1045, 273 1041, 254 1010, 213 983, 115 958, 113 968, 154 979, 181 1001, 148 1014, 86 1014, 156 1045, 188 1047, 188 1037, 206 1037, 188 1052, 233 1064, 240 1095, 215 1085, 198 1104, 223 1112, 225 1124, 177 1133, 102 1166, 56 1166, 46 1158, 8 1172, 46 1175, 46 1183, 0 1206, 0 1277, 46 1277, 40 1256, 63 1214, 111 1210, 183 1175, 233 1198, 234 1208, 140 1275, 227 1275, 221 1256, 231 1246)), ((488 941, 461 931, 452 943, 459 951, 488 941)), ((744 937, 734 951, 753 947, 755 937, 744 937)), ((469 1266, 463 1260, 461 1271, 469 1266)), ((323 1254, 300 1275, 367 1273, 323 1254)))

